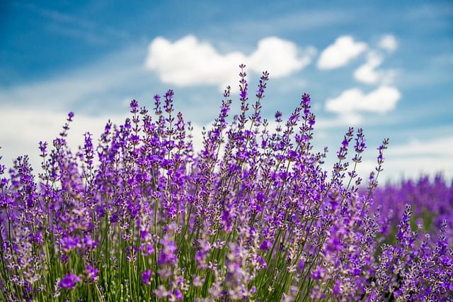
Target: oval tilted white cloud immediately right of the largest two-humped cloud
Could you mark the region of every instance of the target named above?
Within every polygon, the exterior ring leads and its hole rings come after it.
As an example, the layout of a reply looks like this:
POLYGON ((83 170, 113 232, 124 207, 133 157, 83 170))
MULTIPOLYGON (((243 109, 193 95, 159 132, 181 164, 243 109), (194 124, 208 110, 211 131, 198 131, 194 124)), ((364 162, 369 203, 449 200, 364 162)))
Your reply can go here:
POLYGON ((350 35, 343 35, 326 47, 318 60, 319 69, 334 69, 348 64, 367 49, 367 43, 357 42, 350 35))

